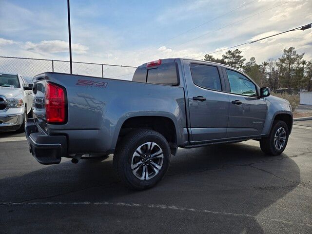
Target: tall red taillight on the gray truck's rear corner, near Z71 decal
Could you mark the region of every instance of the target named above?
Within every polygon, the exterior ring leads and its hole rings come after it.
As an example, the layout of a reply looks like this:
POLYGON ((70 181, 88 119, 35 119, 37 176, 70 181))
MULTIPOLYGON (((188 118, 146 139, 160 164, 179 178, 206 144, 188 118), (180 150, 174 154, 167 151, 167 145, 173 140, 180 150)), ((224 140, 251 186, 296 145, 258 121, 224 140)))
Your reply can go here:
POLYGON ((64 90, 52 83, 45 86, 45 117, 49 123, 63 123, 66 117, 64 90))

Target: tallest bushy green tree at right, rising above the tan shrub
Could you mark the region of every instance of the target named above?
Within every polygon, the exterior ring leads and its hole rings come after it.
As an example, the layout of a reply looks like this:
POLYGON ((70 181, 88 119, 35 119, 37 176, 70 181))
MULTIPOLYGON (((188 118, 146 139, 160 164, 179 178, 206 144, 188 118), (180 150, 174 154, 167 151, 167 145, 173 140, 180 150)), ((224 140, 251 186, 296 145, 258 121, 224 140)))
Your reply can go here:
POLYGON ((304 53, 299 55, 294 47, 290 47, 288 50, 284 49, 284 54, 279 58, 279 62, 283 65, 284 76, 281 80, 282 84, 287 86, 287 88, 297 88, 298 78, 300 72, 298 68, 300 66, 300 61, 303 58, 304 53))

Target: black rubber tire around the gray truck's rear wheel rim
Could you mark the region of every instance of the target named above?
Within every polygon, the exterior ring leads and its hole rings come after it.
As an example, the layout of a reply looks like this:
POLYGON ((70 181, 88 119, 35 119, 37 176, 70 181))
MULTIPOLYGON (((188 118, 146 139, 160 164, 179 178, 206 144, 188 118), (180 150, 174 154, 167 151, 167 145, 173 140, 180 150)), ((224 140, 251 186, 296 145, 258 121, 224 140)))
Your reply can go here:
MULTIPOLYGON (((153 144, 152 144, 152 148, 153 148, 153 144)), ((152 155, 151 151, 153 149, 151 150, 146 149, 147 153, 143 153, 142 156, 137 156, 137 157, 140 160, 147 160, 148 159, 147 157, 150 157, 152 155), (145 156, 146 158, 144 159, 143 156, 145 156)), ((143 150, 141 152, 143 152, 143 150)), ((162 179, 162 177, 166 174, 170 165, 170 156, 171 156, 171 153, 170 153, 169 143, 165 137, 163 137, 161 134, 153 130, 140 129, 140 130, 135 130, 129 133, 128 135, 123 137, 120 143, 118 143, 116 150, 115 150, 114 158, 113 158, 113 164, 114 164, 114 168, 117 172, 118 177, 127 187, 133 190, 143 190, 143 189, 151 188, 154 185, 156 185, 156 183, 159 182, 162 179), (132 170, 133 160, 135 157, 134 154, 135 152, 137 152, 137 149, 142 145, 144 145, 143 146, 143 150, 144 150, 145 143, 149 143, 149 142, 156 143, 156 146, 154 145, 156 150, 160 148, 160 150, 162 151, 162 154, 161 154, 161 156, 163 156, 162 163, 161 163, 162 166, 159 170, 156 170, 156 167, 152 166, 152 162, 151 164, 147 164, 148 162, 145 162, 146 168, 149 168, 147 169, 147 175, 149 176, 149 172, 153 174, 153 170, 155 171, 155 175, 154 177, 151 176, 151 178, 144 178, 142 180, 142 178, 140 179, 135 175, 136 172, 133 173, 133 171, 136 171, 136 170, 132 170), (158 172, 156 173, 156 171, 158 172)), ((151 158, 153 159, 153 157, 151 158)), ((155 159, 156 158, 154 158, 153 160, 155 159)), ((138 160, 138 162, 140 160, 138 160)), ((138 167, 141 167, 141 165, 138 167)), ((142 176, 143 176, 143 172, 142 172, 142 176)))

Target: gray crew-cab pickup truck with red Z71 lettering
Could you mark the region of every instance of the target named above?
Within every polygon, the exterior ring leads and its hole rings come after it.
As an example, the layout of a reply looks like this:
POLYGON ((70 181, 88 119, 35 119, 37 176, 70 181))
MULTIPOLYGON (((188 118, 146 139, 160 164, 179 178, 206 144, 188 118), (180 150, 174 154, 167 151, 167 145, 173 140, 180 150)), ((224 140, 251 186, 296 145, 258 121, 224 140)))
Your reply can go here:
POLYGON ((279 155, 292 131, 287 100, 214 62, 159 59, 132 81, 46 72, 33 93, 26 136, 40 163, 114 154, 118 176, 137 190, 165 175, 178 147, 254 139, 279 155))

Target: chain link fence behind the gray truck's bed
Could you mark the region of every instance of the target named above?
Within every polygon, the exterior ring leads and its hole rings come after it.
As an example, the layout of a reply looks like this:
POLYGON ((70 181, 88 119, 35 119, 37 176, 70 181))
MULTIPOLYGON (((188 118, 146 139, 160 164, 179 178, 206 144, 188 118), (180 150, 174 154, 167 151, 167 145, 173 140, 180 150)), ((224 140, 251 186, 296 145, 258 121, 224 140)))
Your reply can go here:
MULTIPOLYGON (((73 62, 73 74, 131 80, 137 67, 73 62)), ((69 61, 0 56, 0 73, 20 74, 27 81, 43 72, 70 73, 69 61)))

